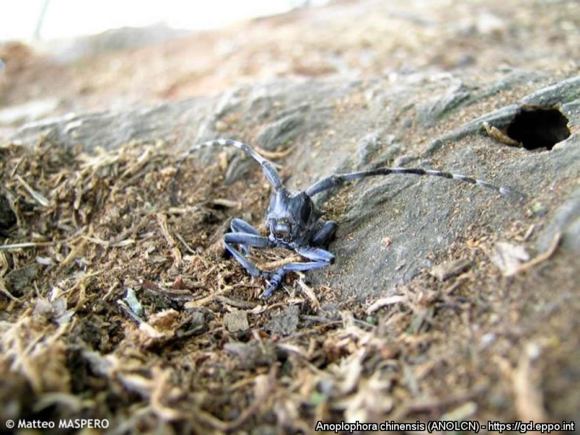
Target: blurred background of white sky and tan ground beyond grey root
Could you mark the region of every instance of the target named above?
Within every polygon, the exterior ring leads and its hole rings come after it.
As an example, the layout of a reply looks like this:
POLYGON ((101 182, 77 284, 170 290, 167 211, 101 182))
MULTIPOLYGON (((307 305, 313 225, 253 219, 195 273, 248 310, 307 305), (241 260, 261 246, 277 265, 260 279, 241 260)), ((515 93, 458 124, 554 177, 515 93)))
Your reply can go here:
POLYGON ((514 67, 568 77, 580 2, 554 1, 5 0, 0 136, 50 116, 278 79, 514 67))

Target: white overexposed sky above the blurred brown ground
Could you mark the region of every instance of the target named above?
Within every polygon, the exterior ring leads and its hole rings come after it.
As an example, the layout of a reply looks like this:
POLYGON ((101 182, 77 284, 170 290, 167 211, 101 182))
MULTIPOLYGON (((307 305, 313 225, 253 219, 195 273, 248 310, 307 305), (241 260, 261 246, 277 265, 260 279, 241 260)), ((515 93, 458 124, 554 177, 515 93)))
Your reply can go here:
MULTIPOLYGON (((304 0, 48 0, 41 39, 94 34, 110 28, 166 23, 201 30, 285 12, 304 0)), ((324 0, 311 1, 317 5, 324 0)), ((3 0, 0 41, 34 37, 45 0, 3 0)))

